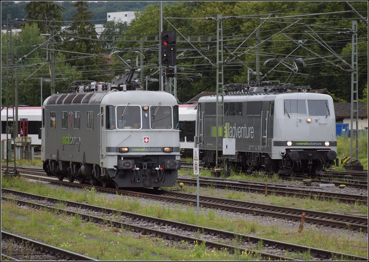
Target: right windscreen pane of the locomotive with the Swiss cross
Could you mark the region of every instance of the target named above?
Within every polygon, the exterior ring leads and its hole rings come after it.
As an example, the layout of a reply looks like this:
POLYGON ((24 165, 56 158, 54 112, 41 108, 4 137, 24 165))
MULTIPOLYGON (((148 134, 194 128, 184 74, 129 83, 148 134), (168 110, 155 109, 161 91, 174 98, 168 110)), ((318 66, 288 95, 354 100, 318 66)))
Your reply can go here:
POLYGON ((172 107, 150 106, 151 129, 172 129, 172 107))

